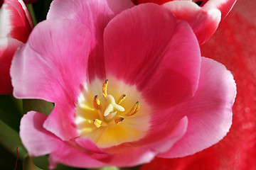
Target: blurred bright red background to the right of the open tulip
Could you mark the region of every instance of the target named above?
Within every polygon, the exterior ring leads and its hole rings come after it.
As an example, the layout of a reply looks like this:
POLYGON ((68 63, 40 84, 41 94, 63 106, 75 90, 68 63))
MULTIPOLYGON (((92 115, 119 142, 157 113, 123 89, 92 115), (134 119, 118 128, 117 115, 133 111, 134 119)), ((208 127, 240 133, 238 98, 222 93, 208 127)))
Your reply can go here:
POLYGON ((256 169, 256 4, 240 0, 203 46, 203 55, 217 60, 233 73, 238 95, 233 125, 218 144, 189 157, 154 159, 142 166, 153 169, 256 169))

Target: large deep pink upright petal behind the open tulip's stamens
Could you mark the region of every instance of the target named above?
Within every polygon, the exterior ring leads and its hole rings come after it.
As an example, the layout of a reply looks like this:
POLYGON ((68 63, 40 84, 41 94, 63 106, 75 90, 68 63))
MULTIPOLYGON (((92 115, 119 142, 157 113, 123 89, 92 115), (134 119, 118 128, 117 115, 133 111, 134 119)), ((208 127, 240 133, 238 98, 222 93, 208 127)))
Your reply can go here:
POLYGON ((201 55, 193 31, 169 10, 141 4, 105 28, 107 77, 136 85, 157 109, 190 98, 198 86, 201 55))

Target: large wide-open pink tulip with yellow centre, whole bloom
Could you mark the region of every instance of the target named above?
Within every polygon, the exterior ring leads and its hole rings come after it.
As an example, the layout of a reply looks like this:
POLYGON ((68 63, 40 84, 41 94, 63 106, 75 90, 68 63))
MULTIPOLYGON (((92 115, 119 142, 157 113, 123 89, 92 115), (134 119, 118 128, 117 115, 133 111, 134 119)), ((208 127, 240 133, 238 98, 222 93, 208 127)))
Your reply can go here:
POLYGON ((50 115, 24 115, 20 131, 50 168, 183 157, 230 128, 233 76, 201 57, 188 23, 156 4, 118 2, 53 1, 14 56, 14 96, 55 103, 50 115))

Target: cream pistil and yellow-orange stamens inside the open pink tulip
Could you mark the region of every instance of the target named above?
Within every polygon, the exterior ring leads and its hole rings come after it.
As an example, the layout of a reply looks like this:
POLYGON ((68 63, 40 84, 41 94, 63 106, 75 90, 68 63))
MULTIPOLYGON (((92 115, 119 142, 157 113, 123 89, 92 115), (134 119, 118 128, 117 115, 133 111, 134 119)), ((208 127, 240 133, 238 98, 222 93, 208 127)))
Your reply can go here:
MULTIPOLYGON (((93 123, 96 126, 96 128, 100 128, 101 126, 113 125, 114 123, 118 125, 124 120, 124 108, 120 104, 127 97, 127 94, 123 94, 122 96, 120 96, 116 103, 114 97, 110 94, 107 94, 107 84, 108 80, 105 80, 104 84, 102 85, 102 102, 100 101, 97 95, 93 99, 93 106, 100 115, 100 119, 93 120, 93 123)), ((135 113, 137 113, 138 110, 139 101, 137 101, 137 103, 134 104, 132 109, 125 115, 134 115, 135 113)))

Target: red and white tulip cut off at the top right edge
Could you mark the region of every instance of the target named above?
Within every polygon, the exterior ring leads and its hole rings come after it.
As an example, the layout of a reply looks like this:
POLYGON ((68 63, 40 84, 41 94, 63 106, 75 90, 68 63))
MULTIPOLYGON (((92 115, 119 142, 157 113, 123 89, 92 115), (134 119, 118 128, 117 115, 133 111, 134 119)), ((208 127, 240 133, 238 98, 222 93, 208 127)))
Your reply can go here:
POLYGON ((206 42, 228 15, 236 0, 132 0, 134 4, 154 2, 168 8, 176 17, 188 21, 198 42, 206 42))

